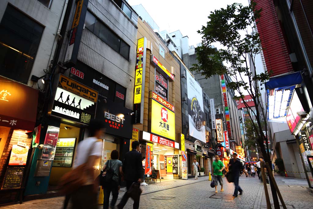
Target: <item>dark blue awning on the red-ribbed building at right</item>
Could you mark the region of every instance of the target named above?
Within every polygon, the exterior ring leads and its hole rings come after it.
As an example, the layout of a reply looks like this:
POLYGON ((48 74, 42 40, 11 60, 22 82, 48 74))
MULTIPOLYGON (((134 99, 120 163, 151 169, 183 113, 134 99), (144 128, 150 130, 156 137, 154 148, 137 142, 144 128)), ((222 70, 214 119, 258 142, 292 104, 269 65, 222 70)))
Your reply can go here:
POLYGON ((301 71, 290 73, 284 76, 270 78, 265 82, 266 89, 275 89, 284 86, 293 86, 302 82, 301 71))

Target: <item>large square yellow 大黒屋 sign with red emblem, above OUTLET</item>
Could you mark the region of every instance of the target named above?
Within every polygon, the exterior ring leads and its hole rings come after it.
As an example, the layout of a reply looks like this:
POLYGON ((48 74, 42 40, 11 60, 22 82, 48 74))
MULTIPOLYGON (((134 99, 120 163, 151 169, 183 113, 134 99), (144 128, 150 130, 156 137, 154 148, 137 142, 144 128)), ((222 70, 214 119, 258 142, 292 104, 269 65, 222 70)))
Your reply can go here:
POLYGON ((151 99, 151 133, 175 141, 175 113, 151 99))

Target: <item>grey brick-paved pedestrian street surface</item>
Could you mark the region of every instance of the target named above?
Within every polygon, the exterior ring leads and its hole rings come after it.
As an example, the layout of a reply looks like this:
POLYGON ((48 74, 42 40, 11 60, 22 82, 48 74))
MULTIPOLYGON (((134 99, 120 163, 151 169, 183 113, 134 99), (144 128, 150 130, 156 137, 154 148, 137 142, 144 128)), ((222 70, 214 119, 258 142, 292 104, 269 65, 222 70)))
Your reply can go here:
MULTIPOLYGON (((157 183, 141 187, 143 193, 141 195, 140 207, 142 209, 157 208, 266 208, 263 184, 258 178, 240 177, 239 185, 243 188, 244 193, 233 200, 227 199, 233 194, 234 186, 232 183, 224 181, 224 191, 214 193, 214 189, 210 187, 210 181, 207 176, 199 177, 198 180, 176 180, 157 183), (224 199, 216 199, 219 196, 224 199)), ((313 195, 306 190, 307 183, 304 179, 284 178, 276 175, 275 180, 283 195, 287 208, 309 209, 312 208, 313 195)), ((268 186, 269 188, 269 186, 268 186)), ((218 186, 218 190, 220 187, 218 186)), ((122 188, 124 190, 124 188, 122 188)), ((120 192, 120 201, 124 192, 120 192)), ((33 200, 24 202, 22 205, 3 206, 0 209, 56 209, 62 208, 64 197, 55 197, 44 200, 33 200)), ((99 209, 102 206, 99 206, 99 209)), ((132 201, 125 206, 126 209, 132 208, 132 201)), ((273 207, 274 208, 274 207, 273 207)))

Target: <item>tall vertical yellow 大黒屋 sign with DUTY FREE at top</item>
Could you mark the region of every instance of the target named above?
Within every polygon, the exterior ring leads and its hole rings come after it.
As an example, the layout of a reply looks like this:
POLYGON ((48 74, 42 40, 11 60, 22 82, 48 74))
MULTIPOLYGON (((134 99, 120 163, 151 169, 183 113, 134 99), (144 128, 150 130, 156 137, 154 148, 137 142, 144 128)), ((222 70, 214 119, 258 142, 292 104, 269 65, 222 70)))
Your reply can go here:
POLYGON ((137 41, 137 56, 135 65, 134 88, 134 124, 143 123, 143 100, 145 96, 145 72, 146 72, 146 38, 137 41))

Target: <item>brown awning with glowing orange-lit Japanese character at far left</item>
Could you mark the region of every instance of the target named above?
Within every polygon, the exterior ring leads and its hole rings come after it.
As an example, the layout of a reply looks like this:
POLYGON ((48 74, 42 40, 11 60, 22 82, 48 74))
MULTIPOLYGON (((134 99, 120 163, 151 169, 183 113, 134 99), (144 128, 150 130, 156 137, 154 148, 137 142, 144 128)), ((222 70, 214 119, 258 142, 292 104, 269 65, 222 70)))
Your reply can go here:
POLYGON ((0 76, 0 126, 32 131, 36 123, 38 92, 0 76))

